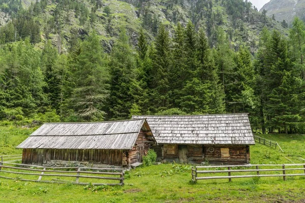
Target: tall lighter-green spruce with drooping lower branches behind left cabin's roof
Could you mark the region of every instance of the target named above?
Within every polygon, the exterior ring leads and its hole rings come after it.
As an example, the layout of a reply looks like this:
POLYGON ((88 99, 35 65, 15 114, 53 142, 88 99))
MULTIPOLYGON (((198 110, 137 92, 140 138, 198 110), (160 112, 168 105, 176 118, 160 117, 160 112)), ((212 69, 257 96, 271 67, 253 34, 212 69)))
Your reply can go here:
POLYGON ((102 121, 108 98, 108 72, 96 31, 80 44, 75 65, 71 107, 80 120, 102 121))

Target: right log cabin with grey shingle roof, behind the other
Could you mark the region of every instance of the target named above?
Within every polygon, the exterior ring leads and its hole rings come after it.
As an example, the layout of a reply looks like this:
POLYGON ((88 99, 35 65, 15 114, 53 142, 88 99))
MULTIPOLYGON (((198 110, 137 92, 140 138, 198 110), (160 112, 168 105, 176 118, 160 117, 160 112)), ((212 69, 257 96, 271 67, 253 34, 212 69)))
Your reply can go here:
POLYGON ((146 118, 158 158, 185 163, 242 164, 254 145, 248 114, 133 116, 146 118))

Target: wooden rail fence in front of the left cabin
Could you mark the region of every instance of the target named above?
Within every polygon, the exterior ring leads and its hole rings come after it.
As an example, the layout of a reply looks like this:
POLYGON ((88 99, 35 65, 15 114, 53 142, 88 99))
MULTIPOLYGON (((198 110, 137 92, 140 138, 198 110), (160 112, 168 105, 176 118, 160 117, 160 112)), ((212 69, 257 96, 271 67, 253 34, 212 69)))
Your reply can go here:
POLYGON ((123 168, 44 167, 5 161, 0 162, 0 178, 21 181, 71 183, 78 185, 87 185, 89 183, 94 185, 124 185, 124 175, 123 168), (15 174, 24 177, 13 177, 15 174), (35 176, 38 179, 32 179, 35 176), (42 178, 45 180, 42 180, 42 178), (50 178, 53 179, 49 180, 50 178), (87 182, 80 182, 79 179, 84 179, 87 182), (94 183, 93 181, 96 180, 103 180, 103 182, 94 183))

